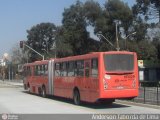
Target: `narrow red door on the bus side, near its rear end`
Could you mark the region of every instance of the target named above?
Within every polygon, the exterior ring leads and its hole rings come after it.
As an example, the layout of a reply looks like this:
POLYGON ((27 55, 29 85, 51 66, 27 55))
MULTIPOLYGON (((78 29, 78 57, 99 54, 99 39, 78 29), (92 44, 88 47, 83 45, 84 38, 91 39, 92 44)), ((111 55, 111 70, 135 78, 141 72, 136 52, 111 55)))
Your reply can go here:
POLYGON ((90 73, 91 73, 91 60, 85 60, 84 61, 84 89, 85 89, 85 98, 87 100, 90 100, 90 89, 91 89, 91 79, 90 79, 90 73))

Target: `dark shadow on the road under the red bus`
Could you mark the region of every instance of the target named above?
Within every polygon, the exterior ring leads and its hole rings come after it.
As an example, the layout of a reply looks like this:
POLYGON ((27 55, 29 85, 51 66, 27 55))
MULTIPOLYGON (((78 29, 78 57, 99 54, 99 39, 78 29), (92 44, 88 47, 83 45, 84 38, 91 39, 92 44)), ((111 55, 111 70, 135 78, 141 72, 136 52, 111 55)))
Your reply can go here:
MULTIPOLYGON (((41 97, 41 96, 39 96, 37 94, 32 94, 32 93, 29 93, 27 91, 23 91, 23 93, 27 93, 27 94, 30 94, 30 95, 41 97)), ((47 99, 52 99, 54 101, 65 102, 65 103, 74 105, 73 100, 71 100, 71 99, 67 99, 67 98, 63 98, 63 97, 57 97, 57 96, 47 96, 46 98, 47 99)), ((81 107, 87 107, 87 108, 92 108, 92 109, 110 109, 110 108, 113 109, 113 108, 126 108, 126 107, 130 107, 128 105, 123 105, 123 104, 116 103, 116 102, 113 102, 112 104, 82 102, 81 105, 79 105, 79 106, 81 106, 81 107)))

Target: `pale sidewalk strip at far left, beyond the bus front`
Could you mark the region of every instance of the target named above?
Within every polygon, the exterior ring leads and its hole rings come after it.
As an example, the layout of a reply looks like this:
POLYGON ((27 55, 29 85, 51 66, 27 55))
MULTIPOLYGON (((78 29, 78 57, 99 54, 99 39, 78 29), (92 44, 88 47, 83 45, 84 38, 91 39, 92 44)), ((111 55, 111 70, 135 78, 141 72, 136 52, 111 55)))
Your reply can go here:
POLYGON ((0 86, 3 85, 23 87, 23 80, 0 80, 0 86))

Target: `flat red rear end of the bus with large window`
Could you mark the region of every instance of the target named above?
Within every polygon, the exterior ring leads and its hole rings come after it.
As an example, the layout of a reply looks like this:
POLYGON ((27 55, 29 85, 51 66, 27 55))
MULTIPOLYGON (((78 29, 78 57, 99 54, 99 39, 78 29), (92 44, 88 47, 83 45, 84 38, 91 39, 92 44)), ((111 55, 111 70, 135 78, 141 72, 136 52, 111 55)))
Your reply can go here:
POLYGON ((100 99, 131 99, 138 96, 138 65, 134 52, 114 51, 101 55, 100 99))

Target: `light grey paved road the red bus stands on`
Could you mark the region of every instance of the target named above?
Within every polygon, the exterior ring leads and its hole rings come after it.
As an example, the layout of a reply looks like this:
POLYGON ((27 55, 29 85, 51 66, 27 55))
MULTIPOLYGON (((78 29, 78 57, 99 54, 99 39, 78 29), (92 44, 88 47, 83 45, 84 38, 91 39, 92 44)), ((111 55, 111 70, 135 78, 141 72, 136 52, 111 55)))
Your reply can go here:
POLYGON ((115 102, 113 105, 83 104, 55 97, 41 98, 26 93, 22 87, 0 86, 0 114, 156 114, 160 109, 115 102))

